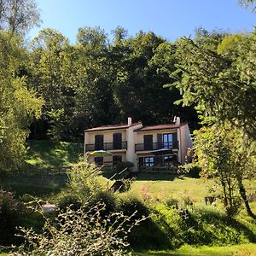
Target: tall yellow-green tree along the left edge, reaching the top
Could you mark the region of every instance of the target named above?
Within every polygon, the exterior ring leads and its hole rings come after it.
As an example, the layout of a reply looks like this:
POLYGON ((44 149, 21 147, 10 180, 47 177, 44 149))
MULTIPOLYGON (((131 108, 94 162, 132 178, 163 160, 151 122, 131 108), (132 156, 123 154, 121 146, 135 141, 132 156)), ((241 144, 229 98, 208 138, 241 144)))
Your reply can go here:
POLYGON ((22 35, 38 22, 32 0, 0 1, 0 172, 20 165, 33 117, 38 118, 44 101, 28 90, 22 67, 27 52, 22 35))

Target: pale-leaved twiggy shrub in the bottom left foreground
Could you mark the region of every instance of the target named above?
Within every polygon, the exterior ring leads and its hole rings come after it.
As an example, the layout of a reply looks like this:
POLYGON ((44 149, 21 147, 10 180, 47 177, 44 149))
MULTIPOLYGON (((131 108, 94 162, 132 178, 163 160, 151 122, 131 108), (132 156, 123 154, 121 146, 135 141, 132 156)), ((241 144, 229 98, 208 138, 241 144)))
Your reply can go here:
MULTIPOLYGON (((139 224, 122 213, 102 218, 104 206, 97 204, 89 211, 80 208, 60 212, 55 223, 45 217, 42 234, 21 228, 26 245, 19 255, 128 255, 126 235, 139 224)), ((44 213, 43 213, 44 214, 44 213)))

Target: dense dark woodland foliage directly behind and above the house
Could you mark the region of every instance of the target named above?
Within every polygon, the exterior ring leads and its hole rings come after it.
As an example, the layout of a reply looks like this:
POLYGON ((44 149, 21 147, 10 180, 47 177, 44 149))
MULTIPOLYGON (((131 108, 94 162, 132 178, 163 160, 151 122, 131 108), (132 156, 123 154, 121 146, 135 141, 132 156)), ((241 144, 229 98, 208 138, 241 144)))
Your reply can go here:
POLYGON ((29 85, 46 102, 33 136, 48 131, 49 137, 70 141, 82 137, 86 127, 124 122, 127 116, 145 124, 170 122, 177 114, 195 119, 193 108, 172 104, 180 99, 177 89, 169 93, 162 87, 173 81, 160 72, 164 64, 174 68, 172 55, 162 63, 163 54, 174 51, 172 44, 153 32, 127 38, 118 27, 113 33, 110 42, 100 27, 81 27, 72 45, 61 32, 44 29, 32 41, 29 85))

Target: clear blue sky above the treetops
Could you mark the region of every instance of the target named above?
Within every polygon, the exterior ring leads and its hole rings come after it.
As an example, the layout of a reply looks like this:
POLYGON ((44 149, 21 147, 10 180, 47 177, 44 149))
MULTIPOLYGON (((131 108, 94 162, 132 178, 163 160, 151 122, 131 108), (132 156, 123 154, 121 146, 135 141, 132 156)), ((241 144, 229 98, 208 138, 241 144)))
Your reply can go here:
POLYGON ((237 0, 37 0, 43 23, 32 29, 57 29, 72 43, 79 27, 100 26, 108 34, 123 26, 133 36, 138 31, 153 31, 173 42, 193 37, 195 27, 250 32, 256 14, 243 9, 237 0))

